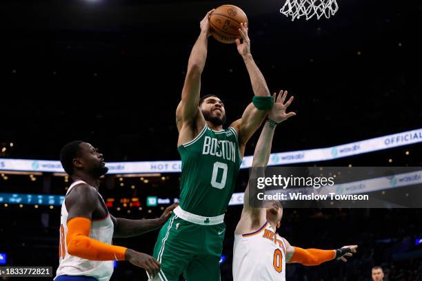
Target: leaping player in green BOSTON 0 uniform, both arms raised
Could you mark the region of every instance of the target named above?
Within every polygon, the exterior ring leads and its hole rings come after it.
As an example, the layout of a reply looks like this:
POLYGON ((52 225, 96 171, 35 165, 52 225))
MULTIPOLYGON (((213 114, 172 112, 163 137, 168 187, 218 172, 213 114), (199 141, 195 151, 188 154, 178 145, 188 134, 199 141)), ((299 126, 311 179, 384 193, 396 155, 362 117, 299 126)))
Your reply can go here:
POLYGON ((237 50, 248 70, 253 103, 243 116, 223 129, 225 108, 217 96, 199 98, 207 56, 210 12, 201 21, 201 34, 192 48, 176 111, 178 147, 182 160, 180 207, 161 228, 154 258, 161 264, 155 280, 220 280, 224 213, 232 196, 245 143, 261 125, 274 98, 250 54, 248 28, 241 25, 243 43, 237 50))

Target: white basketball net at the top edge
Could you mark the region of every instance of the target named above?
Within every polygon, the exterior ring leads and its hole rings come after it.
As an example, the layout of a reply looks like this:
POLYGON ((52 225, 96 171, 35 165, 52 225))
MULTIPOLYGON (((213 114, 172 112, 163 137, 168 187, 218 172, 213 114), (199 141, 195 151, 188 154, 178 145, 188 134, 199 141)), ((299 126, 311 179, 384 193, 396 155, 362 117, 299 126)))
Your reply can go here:
POLYGON ((336 0, 286 0, 281 14, 294 19, 306 17, 306 20, 316 16, 320 19, 325 16, 327 19, 339 10, 336 0))

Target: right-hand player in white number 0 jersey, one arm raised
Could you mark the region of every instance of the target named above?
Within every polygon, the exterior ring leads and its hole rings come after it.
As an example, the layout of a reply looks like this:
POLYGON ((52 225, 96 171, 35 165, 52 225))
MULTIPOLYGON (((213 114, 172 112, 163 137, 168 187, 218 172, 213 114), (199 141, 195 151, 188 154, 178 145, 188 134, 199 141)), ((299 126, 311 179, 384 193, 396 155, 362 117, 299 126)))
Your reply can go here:
MULTIPOLYGON (((257 147, 252 167, 265 167, 270 158, 272 137, 277 124, 294 115, 285 113, 290 105, 285 103, 286 92, 277 98, 268 113, 257 147)), ((328 260, 343 260, 356 253, 357 246, 345 246, 336 250, 302 249, 292 247, 277 234, 283 208, 279 201, 269 202, 267 208, 249 205, 249 185, 245 190, 241 219, 234 231, 233 280, 234 281, 285 281, 285 262, 299 262, 303 265, 318 265, 328 260)))

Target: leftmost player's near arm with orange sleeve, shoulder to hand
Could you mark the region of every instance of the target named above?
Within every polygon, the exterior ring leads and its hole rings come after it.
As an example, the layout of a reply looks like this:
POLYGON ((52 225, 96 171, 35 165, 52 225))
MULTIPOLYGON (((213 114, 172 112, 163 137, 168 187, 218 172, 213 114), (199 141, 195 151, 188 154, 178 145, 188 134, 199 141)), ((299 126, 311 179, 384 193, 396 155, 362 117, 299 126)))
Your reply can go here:
POLYGON ((148 271, 148 274, 157 275, 160 264, 152 256, 90 238, 92 213, 97 206, 98 193, 89 185, 74 187, 66 197, 69 213, 66 236, 68 253, 87 260, 128 260, 148 271))

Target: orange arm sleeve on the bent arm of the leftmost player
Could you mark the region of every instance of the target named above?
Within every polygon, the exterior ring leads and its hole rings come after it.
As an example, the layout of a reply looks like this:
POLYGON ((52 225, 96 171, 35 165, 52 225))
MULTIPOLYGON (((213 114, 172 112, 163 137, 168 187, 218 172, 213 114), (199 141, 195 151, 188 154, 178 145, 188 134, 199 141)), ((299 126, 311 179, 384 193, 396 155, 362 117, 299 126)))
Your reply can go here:
POLYGON ((88 218, 72 218, 68 221, 66 244, 68 253, 87 260, 124 260, 127 248, 109 245, 89 238, 91 221, 88 218))

